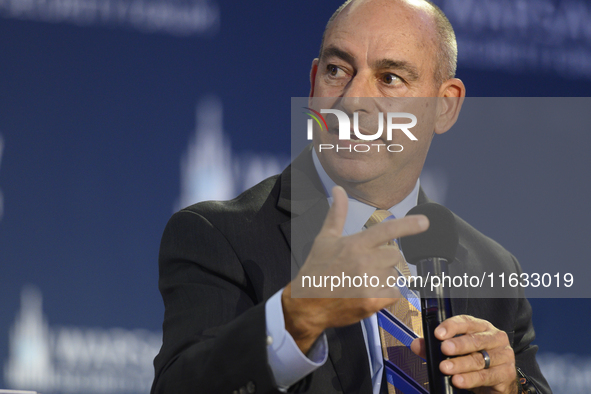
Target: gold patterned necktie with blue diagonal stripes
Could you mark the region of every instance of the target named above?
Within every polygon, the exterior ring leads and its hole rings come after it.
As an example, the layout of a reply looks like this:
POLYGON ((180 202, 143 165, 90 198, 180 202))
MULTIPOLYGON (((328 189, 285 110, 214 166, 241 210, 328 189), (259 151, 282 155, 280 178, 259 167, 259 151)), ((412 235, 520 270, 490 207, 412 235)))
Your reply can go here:
MULTIPOLYGON (((390 212, 378 209, 368 221, 369 228, 385 220, 394 219, 390 212)), ((388 242, 393 245, 396 240, 388 242)), ((408 264, 401 259, 396 269, 405 277, 410 276, 408 264)), ((414 338, 423 336, 420 300, 408 288, 399 288, 404 298, 377 313, 384 372, 382 382, 387 385, 388 394, 426 394, 429 392, 429 378, 425 360, 410 350, 414 338)))

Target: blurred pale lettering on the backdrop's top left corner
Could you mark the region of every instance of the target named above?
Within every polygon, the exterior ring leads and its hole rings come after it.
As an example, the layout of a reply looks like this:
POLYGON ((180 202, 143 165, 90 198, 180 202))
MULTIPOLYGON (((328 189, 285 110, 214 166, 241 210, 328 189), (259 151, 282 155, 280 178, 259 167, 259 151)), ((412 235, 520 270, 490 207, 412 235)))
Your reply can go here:
POLYGON ((219 7, 210 0, 0 0, 0 16, 179 36, 214 34, 220 25, 219 7))

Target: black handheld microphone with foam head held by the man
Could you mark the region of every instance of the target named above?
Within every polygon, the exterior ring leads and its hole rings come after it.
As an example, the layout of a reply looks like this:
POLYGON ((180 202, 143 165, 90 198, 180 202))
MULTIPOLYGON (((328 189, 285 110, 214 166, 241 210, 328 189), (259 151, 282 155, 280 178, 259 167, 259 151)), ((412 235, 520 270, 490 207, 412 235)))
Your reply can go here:
MULTIPOLYGON (((400 239, 400 247, 406 261, 417 266, 417 274, 429 283, 419 285, 423 335, 427 348, 427 369, 429 392, 452 394, 457 390, 451 384, 451 376, 441 373, 439 364, 449 357, 441 352, 441 341, 435 338, 435 328, 445 319, 453 316, 449 301, 449 287, 431 286, 430 280, 447 273, 456 255, 458 230, 453 214, 447 208, 435 203, 417 205, 407 215, 425 215, 429 218, 427 231, 400 239)), ((442 284, 442 280, 439 284, 442 284)))

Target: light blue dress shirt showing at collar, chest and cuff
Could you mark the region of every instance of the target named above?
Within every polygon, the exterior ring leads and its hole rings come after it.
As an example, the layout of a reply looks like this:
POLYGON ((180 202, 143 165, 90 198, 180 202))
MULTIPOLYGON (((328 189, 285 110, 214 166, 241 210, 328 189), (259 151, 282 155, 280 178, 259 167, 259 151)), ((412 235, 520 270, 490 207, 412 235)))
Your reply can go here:
MULTIPOLYGON (((314 166, 320 176, 322 185, 327 195, 328 203, 332 204, 332 188, 336 186, 334 181, 322 168, 316 151, 312 151, 314 166)), ((406 216, 408 211, 417 205, 419 196, 419 180, 412 192, 400 203, 389 209, 397 218, 406 216)), ((354 198, 349 197, 349 209, 347 219, 343 229, 343 235, 355 234, 363 228, 369 217, 376 210, 375 207, 364 204, 354 198)), ((416 275, 416 267, 409 265, 412 275, 416 275)), ((322 334, 308 355, 304 355, 296 345, 292 336, 285 330, 283 318, 283 307, 281 305, 281 294, 283 289, 275 293, 267 300, 265 305, 265 318, 267 325, 267 355, 269 366, 273 371, 275 382, 281 391, 287 391, 287 388, 322 366, 328 358, 328 342, 326 335, 322 334)), ((361 329, 367 348, 369 359, 369 370, 373 385, 373 393, 379 394, 382 383, 383 358, 382 345, 380 343, 380 334, 378 331, 378 320, 376 315, 362 320, 361 329)))

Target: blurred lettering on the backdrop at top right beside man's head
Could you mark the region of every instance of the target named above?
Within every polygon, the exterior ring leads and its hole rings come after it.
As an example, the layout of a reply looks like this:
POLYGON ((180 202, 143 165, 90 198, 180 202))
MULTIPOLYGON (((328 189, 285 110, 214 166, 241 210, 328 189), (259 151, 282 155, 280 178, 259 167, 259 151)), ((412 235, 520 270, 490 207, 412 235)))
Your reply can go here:
POLYGON ((588 0, 436 0, 454 27, 458 64, 591 79, 588 0))

